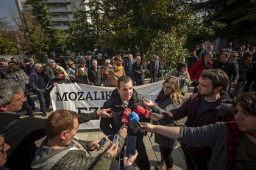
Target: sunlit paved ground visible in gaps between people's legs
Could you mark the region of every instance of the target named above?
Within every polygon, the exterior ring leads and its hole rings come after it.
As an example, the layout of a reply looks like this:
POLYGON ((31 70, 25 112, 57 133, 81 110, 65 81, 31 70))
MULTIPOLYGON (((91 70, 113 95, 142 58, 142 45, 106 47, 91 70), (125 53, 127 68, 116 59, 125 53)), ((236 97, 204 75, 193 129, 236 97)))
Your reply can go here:
MULTIPOLYGON (((189 92, 185 94, 185 100, 187 100, 189 95, 191 95, 193 92, 192 86, 190 86, 188 89, 189 89, 189 92)), ((37 97, 35 95, 32 95, 32 98, 33 100, 35 100, 35 105, 37 107, 36 110, 34 111, 35 117, 46 119, 47 117, 41 116, 37 97)), ((24 111, 21 111, 19 114, 24 114, 24 111)), ((49 114, 50 113, 48 113, 48 115, 49 114)), ((185 120, 186 118, 181 119, 179 120, 179 123, 183 124, 185 120)), ((148 135, 150 136, 151 133, 149 133, 148 135)), ((79 132, 77 133, 77 137, 84 140, 96 141, 103 138, 104 133, 102 133, 101 130, 79 130, 79 132)), ((146 145, 146 152, 149 155, 151 169, 154 169, 154 166, 157 164, 157 161, 160 161, 160 149, 158 147, 158 144, 154 143, 154 135, 152 136, 152 138, 149 138, 148 136, 144 137, 143 141, 144 141, 144 144, 146 145)), ((92 152, 92 155, 96 156, 99 153, 100 152, 95 151, 95 152, 92 152)), ((174 158, 174 170, 186 169, 183 152, 179 146, 177 146, 174 149, 172 156, 174 158)), ((135 169, 138 169, 138 168, 136 167, 135 169)), ((166 169, 166 167, 164 166, 163 169, 166 169)))

